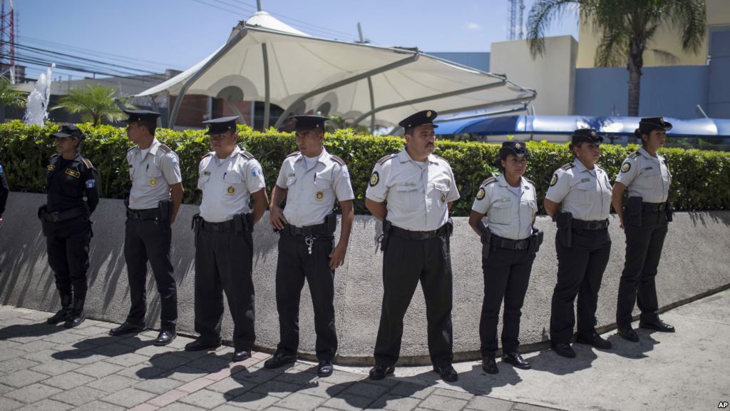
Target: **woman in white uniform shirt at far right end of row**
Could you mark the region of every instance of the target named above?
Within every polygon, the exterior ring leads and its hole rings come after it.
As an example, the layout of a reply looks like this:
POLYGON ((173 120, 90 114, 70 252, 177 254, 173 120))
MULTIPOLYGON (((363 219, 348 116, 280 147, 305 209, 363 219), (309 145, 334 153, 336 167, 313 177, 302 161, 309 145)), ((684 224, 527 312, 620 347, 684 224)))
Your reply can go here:
POLYGON ((626 263, 618 286, 616 324, 618 334, 631 342, 639 336, 631 328, 634 303, 641 310, 639 328, 673 333, 675 328, 664 323, 656 313, 656 271, 664 246, 667 222, 672 211, 666 203, 672 174, 666 160, 657 153, 664 147, 666 132, 672 124, 661 117, 642 118, 634 134, 641 139, 642 148, 621 165, 613 185, 613 208, 626 233, 626 263), (629 199, 623 207, 623 192, 629 189, 629 199))

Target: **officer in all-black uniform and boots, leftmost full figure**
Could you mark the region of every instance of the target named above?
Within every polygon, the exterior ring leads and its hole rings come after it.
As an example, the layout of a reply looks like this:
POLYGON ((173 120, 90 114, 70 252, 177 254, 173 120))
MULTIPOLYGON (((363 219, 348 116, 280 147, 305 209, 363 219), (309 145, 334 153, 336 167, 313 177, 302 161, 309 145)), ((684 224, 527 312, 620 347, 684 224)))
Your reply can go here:
POLYGON ((46 236, 48 263, 61 295, 61 310, 47 320, 66 328, 83 323, 89 267, 91 213, 99 204, 96 169, 79 153, 81 130, 68 125, 52 134, 58 154, 47 167, 47 204, 38 211, 46 236))

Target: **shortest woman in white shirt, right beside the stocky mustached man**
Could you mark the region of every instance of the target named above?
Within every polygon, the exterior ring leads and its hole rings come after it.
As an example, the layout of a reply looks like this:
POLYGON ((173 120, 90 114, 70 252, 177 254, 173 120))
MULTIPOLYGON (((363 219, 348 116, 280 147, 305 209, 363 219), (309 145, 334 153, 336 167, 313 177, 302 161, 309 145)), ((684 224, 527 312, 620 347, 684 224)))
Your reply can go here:
POLYGON ((532 227, 537 212, 535 186, 523 177, 527 167, 526 155, 524 143, 507 141, 502 144, 497 166, 503 173, 482 183, 469 216, 469 225, 480 235, 483 243, 484 301, 479 335, 482 368, 488 374, 499 372, 494 353, 497 350, 497 323, 502 299, 502 361, 520 369, 530 368, 518 351, 518 335, 520 309, 527 293, 540 235, 534 234, 532 227), (488 227, 483 224, 485 215, 488 227))

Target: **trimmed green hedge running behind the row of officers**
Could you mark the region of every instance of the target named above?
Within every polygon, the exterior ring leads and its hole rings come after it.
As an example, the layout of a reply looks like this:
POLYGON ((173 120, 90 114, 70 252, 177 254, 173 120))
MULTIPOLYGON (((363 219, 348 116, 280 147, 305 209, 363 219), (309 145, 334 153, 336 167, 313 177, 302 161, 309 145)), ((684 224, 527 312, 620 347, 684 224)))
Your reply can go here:
MULTIPOLYGON (((103 197, 123 198, 129 190, 125 153, 131 143, 124 129, 110 126, 93 127, 80 124, 87 135, 82 153, 96 165, 101 179, 103 197)), ((44 192, 47 159, 55 153, 50 133, 58 126, 26 126, 19 121, 0 124, 0 161, 7 168, 9 184, 13 191, 44 192)), ((261 162, 269 192, 276 181, 284 157, 296 151, 291 133, 270 129, 256 132, 250 127, 239 126, 240 143, 261 162)), ((180 157, 185 203, 199 203, 196 190, 198 162, 210 150, 207 138, 201 130, 176 132, 158 129, 159 140, 170 146, 180 157)), ((349 129, 327 134, 327 151, 347 162, 356 195, 356 213, 366 214, 364 195, 372 167, 380 157, 399 151, 404 140, 398 137, 354 135, 349 129)), ((537 185, 538 197, 545 196, 548 182, 554 170, 571 162, 565 144, 545 142, 528 143, 529 167, 526 176, 537 185)), ((609 176, 616 176, 618 167, 636 146, 604 145, 600 164, 609 176)), ((455 214, 466 216, 481 182, 491 176, 499 146, 494 144, 440 140, 436 154, 447 159, 453 167, 461 200, 455 204, 455 214)), ((730 154, 718 151, 684 150, 666 148, 666 156, 674 180, 670 200, 678 210, 727 210, 730 209, 730 154)))

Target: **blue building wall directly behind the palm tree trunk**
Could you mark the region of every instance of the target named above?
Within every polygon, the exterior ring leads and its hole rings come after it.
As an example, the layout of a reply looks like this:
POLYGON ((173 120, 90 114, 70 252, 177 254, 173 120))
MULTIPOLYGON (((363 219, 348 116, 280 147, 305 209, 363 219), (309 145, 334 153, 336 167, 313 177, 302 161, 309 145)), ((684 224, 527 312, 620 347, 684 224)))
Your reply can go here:
MULTIPOLYGON (((696 118, 697 105, 707 111, 709 66, 645 67, 642 71, 640 117, 696 118)), ((627 116, 628 96, 625 67, 575 70, 577 116, 627 116)))

